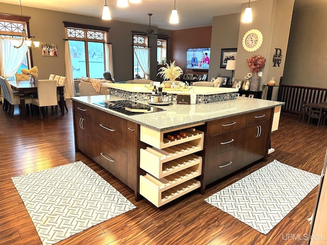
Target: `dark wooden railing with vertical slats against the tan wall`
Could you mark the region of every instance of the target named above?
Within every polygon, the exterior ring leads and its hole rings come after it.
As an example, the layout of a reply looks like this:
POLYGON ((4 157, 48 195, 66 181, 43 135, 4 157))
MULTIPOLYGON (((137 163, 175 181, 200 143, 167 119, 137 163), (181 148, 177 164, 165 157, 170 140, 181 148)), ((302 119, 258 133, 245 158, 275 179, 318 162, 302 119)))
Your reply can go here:
POLYGON ((285 105, 282 106, 282 110, 299 113, 303 101, 307 103, 321 103, 327 101, 327 89, 279 85, 277 101, 285 102, 285 105))

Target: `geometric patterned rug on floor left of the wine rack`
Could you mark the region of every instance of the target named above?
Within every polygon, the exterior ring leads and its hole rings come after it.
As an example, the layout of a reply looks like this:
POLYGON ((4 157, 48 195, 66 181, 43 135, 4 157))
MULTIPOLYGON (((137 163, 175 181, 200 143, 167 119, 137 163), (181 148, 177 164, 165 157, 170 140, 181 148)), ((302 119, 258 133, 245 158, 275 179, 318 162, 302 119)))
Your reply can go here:
POLYGON ((44 245, 136 208, 81 161, 12 181, 44 245))

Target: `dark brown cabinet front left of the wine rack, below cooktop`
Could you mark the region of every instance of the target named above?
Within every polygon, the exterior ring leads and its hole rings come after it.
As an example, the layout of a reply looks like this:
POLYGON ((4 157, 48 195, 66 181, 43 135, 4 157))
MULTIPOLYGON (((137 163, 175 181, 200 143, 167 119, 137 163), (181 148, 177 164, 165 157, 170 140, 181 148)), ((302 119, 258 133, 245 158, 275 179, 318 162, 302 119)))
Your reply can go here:
POLYGON ((73 108, 76 151, 85 153, 135 191, 138 125, 76 101, 73 108))

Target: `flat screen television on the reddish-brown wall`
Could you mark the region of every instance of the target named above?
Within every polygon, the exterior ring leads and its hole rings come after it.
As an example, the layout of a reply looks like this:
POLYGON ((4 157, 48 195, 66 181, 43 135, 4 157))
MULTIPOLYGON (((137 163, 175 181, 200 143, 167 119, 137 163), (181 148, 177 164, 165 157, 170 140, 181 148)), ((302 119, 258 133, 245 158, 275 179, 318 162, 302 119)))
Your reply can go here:
POLYGON ((187 48, 186 49, 186 68, 208 70, 210 64, 210 48, 187 48))

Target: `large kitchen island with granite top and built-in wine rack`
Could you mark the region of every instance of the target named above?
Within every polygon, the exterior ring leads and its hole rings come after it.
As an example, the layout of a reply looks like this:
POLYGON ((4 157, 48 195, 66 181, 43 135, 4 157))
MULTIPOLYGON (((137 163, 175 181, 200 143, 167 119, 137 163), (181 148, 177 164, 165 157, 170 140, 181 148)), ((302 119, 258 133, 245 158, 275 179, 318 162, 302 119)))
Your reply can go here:
POLYGON ((72 100, 76 151, 157 207, 266 160, 274 108, 284 104, 237 97, 126 115, 96 104, 122 100, 112 95, 72 100))

